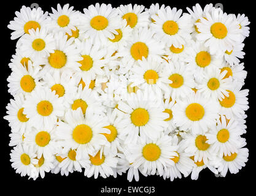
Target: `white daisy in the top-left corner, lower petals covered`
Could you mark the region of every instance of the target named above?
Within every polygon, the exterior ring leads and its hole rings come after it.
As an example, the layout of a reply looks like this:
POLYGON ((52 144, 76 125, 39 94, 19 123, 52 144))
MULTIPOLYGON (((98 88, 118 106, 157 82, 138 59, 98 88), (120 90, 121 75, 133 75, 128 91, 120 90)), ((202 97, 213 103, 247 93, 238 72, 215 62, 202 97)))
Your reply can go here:
POLYGON ((29 34, 29 29, 41 29, 48 23, 46 19, 48 12, 42 11, 41 7, 31 10, 30 7, 22 6, 20 12, 15 12, 15 15, 14 20, 10 21, 7 26, 9 29, 14 30, 10 39, 17 39, 25 33, 29 34))

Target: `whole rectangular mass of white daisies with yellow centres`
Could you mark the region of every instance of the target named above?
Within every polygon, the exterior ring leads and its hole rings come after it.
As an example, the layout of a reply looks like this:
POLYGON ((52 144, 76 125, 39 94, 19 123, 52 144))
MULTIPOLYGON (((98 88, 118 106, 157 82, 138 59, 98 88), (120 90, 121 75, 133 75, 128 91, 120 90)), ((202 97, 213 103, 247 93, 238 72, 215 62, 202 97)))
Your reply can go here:
POLYGON ((97 3, 15 12, 4 118, 16 172, 238 173, 248 157, 240 59, 249 21, 212 4, 187 11, 97 3))

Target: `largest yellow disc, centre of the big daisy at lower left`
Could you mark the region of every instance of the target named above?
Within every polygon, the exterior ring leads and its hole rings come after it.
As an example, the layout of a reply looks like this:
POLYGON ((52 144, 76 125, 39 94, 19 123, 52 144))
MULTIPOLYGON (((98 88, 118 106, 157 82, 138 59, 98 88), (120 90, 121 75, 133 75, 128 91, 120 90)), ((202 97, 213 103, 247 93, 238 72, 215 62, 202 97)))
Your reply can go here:
POLYGON ((87 126, 86 124, 80 124, 73 130, 72 137, 77 143, 84 145, 85 143, 91 141, 93 131, 91 130, 91 127, 87 126))

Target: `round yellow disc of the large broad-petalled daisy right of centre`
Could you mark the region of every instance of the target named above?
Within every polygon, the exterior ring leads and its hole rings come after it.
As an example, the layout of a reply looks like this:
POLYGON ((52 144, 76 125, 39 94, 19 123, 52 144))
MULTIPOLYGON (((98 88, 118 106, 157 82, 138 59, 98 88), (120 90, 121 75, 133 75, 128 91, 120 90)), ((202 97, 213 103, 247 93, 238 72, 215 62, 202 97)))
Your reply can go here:
POLYGON ((200 104, 193 103, 188 105, 185 110, 186 116, 191 121, 199 121, 204 116, 204 108, 200 104))

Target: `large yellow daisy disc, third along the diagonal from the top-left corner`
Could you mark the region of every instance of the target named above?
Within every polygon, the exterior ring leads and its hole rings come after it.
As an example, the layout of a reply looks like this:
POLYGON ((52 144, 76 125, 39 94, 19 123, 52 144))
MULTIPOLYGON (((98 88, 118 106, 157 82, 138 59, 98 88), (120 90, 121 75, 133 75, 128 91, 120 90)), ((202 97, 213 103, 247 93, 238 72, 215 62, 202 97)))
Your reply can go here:
POLYGON ((48 57, 48 62, 53 68, 60 69, 66 64, 67 56, 65 55, 65 53, 63 53, 63 51, 55 50, 54 53, 50 53, 50 56, 48 57))

